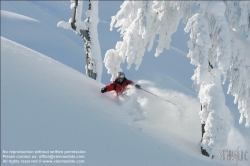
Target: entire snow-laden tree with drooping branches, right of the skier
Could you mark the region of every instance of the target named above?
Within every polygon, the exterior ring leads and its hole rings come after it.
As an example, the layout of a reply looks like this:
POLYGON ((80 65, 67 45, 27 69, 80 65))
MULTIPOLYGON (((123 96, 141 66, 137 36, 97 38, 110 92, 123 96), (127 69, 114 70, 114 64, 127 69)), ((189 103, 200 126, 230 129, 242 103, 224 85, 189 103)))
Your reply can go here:
POLYGON ((249 4, 243 1, 125 1, 111 21, 111 30, 119 28, 123 37, 116 48, 105 55, 104 63, 111 79, 121 70, 121 63, 127 62, 128 69, 134 63, 138 69, 146 47, 148 51, 152 49, 157 35, 155 56, 164 48, 169 49, 171 35, 182 20, 186 24, 185 32, 190 32, 187 56, 197 67, 192 80, 202 105, 201 123, 205 124, 201 146, 216 155, 218 149, 226 145, 230 131, 229 110, 222 90, 228 73, 228 93, 235 96, 235 103, 238 101, 240 122, 244 117, 249 127, 249 4), (194 10, 192 5, 196 5, 194 10))

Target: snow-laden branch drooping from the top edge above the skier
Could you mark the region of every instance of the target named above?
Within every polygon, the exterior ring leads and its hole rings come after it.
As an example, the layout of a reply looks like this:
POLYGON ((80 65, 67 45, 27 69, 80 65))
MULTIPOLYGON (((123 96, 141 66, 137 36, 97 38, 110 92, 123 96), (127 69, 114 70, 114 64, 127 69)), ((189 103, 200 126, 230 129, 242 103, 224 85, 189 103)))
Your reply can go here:
POLYGON ((110 24, 111 30, 113 27, 119 28, 123 36, 116 50, 123 59, 120 62, 126 61, 128 69, 134 63, 137 70, 146 48, 148 51, 152 49, 157 35, 159 41, 155 56, 159 56, 164 48, 169 49, 171 36, 176 32, 181 18, 185 15, 187 19, 190 15, 190 4, 179 1, 125 1, 110 24))

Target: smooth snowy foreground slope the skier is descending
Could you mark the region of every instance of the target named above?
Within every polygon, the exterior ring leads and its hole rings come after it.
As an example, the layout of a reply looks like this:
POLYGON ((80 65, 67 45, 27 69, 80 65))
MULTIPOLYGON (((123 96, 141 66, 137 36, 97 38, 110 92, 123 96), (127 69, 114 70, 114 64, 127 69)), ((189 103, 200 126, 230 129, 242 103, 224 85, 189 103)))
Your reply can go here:
POLYGON ((226 165, 199 154, 194 142, 187 143, 192 134, 178 138, 174 135, 180 133, 166 130, 184 132, 175 124, 178 114, 165 112, 172 116, 165 124, 152 117, 163 113, 160 107, 178 111, 173 106, 144 94, 144 104, 155 100, 154 110, 142 108, 151 116, 134 121, 132 113, 141 115, 139 108, 131 111, 134 100, 103 95, 102 84, 76 70, 6 38, 1 43, 2 149, 86 150, 85 165, 226 165))

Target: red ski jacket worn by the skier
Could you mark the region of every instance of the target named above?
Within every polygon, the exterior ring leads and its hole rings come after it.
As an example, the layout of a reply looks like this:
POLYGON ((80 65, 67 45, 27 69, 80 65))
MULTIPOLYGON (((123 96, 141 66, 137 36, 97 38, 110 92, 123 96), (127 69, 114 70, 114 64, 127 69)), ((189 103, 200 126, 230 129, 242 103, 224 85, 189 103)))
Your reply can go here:
POLYGON ((107 88, 107 92, 115 90, 116 96, 118 96, 119 93, 122 93, 126 90, 129 84, 134 84, 134 83, 133 81, 124 78, 122 82, 118 82, 117 80, 115 80, 109 85, 105 86, 105 88, 107 88))

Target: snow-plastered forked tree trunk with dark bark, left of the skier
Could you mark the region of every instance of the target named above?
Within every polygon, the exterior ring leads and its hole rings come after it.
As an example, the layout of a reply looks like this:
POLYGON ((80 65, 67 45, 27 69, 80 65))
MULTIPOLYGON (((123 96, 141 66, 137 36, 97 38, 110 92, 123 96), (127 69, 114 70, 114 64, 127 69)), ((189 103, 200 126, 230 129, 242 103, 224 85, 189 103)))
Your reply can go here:
POLYGON ((89 0, 85 21, 81 20, 82 0, 71 0, 70 8, 73 10, 72 18, 69 19, 69 22, 60 21, 57 26, 73 30, 82 37, 86 51, 86 74, 100 82, 102 75, 102 57, 97 32, 97 25, 99 23, 98 1, 89 0))

